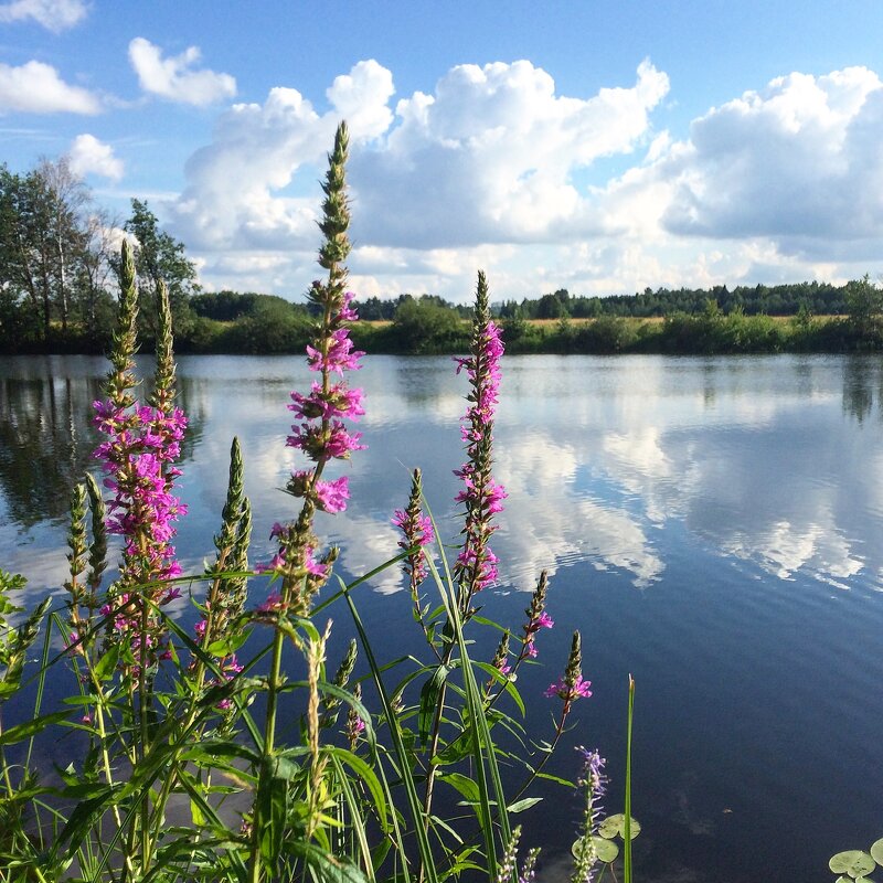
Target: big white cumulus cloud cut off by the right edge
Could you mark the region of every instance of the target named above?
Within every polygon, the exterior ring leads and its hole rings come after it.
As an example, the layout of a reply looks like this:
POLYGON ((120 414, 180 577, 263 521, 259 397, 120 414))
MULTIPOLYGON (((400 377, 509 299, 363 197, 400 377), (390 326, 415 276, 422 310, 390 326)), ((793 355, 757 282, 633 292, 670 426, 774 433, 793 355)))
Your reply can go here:
MULTIPOLYGON (((696 119, 661 167, 672 233, 769 237, 786 252, 883 235, 883 83, 865 67, 790 74, 696 119)), ((833 246, 833 252, 840 246, 833 246)))

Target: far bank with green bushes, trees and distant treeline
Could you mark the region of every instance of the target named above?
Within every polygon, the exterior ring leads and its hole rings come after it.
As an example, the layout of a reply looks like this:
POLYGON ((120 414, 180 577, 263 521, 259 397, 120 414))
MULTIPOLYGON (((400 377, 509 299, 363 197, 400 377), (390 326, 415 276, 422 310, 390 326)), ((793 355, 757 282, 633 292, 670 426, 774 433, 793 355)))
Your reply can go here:
MULTIPOLYGON (((157 285, 169 290, 179 352, 296 353, 311 339, 316 307, 272 295, 202 291, 182 243, 160 230, 147 202, 110 217, 67 166, 43 160, 26 174, 0 166, 0 352, 109 351, 118 243, 134 246, 142 347, 156 339, 157 285)), ((435 295, 368 297, 353 329, 370 353, 456 353, 469 310, 435 295)), ((566 289, 491 305, 511 353, 853 352, 883 348, 883 289, 868 277, 733 289, 646 288, 586 297, 566 289)))

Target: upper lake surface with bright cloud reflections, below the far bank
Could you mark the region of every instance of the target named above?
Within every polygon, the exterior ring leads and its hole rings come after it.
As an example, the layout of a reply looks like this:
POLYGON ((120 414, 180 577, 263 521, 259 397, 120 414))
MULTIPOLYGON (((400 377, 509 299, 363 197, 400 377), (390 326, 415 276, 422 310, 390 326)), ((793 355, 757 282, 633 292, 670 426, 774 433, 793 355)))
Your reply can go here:
MULTIPOLYGON (((446 542, 458 526, 451 472, 462 456, 465 380, 444 358, 366 361, 358 380, 369 449, 343 465, 350 510, 319 524, 345 549, 350 575, 395 554, 389 519, 414 466, 446 542)), ((875 360, 532 357, 504 369, 501 588, 530 591, 541 568, 581 561, 648 588, 664 574, 678 530, 780 579, 804 572, 841 588, 881 587, 875 360)), ((91 466, 89 404, 103 371, 94 359, 0 361, 0 549, 7 567, 30 562, 35 585, 64 577, 66 496, 91 466)), ((286 404, 307 382, 302 360, 182 359, 179 373, 192 427, 182 480, 190 515, 179 538, 185 567, 199 567, 211 547, 233 435, 257 512, 255 556, 269 554, 269 528, 294 511, 279 489, 295 464, 286 404)), ((390 593, 402 582, 390 572, 373 585, 390 593)))

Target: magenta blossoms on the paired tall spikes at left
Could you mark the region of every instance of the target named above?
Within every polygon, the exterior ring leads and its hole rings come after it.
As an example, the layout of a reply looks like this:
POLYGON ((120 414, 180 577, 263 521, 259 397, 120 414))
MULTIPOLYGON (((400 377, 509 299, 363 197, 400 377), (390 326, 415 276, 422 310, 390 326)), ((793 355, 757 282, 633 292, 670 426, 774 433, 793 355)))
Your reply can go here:
MULTIPOLYGON (((171 541, 173 524, 187 507, 172 492, 181 470, 171 464, 181 456, 184 413, 173 408, 167 414, 147 405, 125 408, 113 401, 95 402, 93 407, 94 424, 107 436, 93 456, 102 461, 104 485, 114 494, 107 530, 125 538, 124 576, 132 582, 179 576, 171 541)), ((160 600, 177 594, 170 588, 160 600)))

